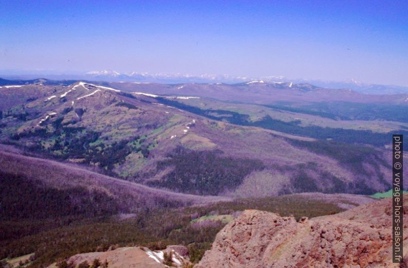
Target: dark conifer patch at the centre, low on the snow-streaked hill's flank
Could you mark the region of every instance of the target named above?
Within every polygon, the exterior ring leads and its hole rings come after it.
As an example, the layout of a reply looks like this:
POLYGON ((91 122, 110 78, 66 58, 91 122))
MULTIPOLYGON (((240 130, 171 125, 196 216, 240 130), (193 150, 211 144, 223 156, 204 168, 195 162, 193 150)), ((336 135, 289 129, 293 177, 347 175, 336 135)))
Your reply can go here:
POLYGON ((218 195, 234 189, 252 171, 264 168, 260 160, 226 157, 219 150, 193 151, 178 147, 168 157, 158 162, 157 171, 169 166, 174 169, 162 180, 149 184, 198 195, 218 195))

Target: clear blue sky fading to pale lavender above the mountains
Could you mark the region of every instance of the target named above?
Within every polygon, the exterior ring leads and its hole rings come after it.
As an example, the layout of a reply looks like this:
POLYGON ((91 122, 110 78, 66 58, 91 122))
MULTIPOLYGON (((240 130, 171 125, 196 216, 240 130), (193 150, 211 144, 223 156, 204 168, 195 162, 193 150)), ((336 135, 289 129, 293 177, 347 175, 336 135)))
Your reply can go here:
POLYGON ((408 1, 3 1, 0 70, 408 85, 408 1))

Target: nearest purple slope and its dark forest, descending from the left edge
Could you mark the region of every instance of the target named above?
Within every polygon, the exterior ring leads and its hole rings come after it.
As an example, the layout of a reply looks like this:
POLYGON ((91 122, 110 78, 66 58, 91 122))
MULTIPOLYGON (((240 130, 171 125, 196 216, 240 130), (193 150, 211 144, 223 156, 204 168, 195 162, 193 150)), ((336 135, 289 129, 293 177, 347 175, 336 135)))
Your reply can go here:
POLYGON ((0 229, 7 230, 0 235, 0 259, 18 263, 26 257, 30 267, 79 253, 114 254, 108 249, 120 246, 157 251, 169 244, 187 246, 196 263, 216 233, 244 209, 301 218, 373 201, 317 193, 234 200, 185 195, 24 156, 9 146, 2 146, 0 160, 0 229))

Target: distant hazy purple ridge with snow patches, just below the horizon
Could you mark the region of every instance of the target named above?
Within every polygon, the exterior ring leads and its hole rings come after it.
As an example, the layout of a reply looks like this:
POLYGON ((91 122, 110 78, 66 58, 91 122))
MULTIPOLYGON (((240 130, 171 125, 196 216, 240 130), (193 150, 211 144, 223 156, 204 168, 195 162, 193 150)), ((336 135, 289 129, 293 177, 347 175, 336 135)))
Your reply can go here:
POLYGON ((238 84, 207 83, 207 84, 174 84, 139 82, 104 83, 114 88, 152 94, 190 95, 213 98, 229 102, 244 102, 257 104, 273 104, 290 102, 297 105, 314 102, 351 102, 408 105, 408 94, 370 95, 351 89, 331 89, 314 86, 307 83, 250 81, 238 84))

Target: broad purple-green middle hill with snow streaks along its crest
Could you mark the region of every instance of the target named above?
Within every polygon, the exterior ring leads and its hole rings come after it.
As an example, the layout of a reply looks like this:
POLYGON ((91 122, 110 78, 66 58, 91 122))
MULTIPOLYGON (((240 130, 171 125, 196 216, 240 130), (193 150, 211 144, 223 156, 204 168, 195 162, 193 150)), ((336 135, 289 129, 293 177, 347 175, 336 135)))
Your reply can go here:
MULTIPOLYGON (((386 151, 355 144, 383 144, 388 134, 374 129, 308 125, 316 118, 307 115, 299 121, 297 114, 276 119, 283 113, 259 105, 216 109, 221 102, 214 101, 211 108, 201 108, 182 103, 190 99, 88 83, 35 87, 44 97, 23 98, 3 113, 0 142, 104 175, 199 195, 224 195, 239 188, 244 197, 314 191, 371 194, 390 187, 386 151), (327 137, 333 142, 311 145, 314 138, 327 137), (327 153, 336 151, 345 154, 327 153), (370 157, 363 151, 370 151, 370 157), (353 161, 346 163, 346 155, 353 161), (364 166, 366 172, 360 174, 354 166, 364 166), (365 183, 373 176, 373 183, 365 183), (258 190, 246 190, 255 181, 258 190)), ((21 87, 22 94, 27 88, 21 87)), ((322 124, 332 121, 337 122, 322 124)))

